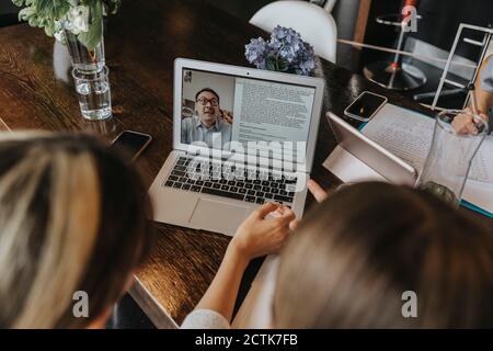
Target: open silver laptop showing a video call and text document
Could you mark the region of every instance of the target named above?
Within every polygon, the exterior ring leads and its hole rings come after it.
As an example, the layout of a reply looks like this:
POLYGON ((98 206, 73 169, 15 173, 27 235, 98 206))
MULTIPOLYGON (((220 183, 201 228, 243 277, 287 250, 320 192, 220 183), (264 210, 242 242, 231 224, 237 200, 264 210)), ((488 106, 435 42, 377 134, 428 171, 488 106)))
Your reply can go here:
POLYGON ((179 58, 173 151, 149 194, 154 220, 234 235, 265 202, 301 217, 324 81, 179 58))

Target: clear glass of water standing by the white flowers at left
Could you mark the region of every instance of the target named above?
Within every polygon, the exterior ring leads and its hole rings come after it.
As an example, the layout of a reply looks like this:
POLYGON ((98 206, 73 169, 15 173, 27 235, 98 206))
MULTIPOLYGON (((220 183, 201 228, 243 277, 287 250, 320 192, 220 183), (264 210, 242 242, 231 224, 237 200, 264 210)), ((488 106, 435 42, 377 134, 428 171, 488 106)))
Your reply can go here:
POLYGON ((101 121, 112 116, 108 73, 106 66, 95 72, 87 72, 77 67, 72 69, 80 111, 84 118, 101 121))

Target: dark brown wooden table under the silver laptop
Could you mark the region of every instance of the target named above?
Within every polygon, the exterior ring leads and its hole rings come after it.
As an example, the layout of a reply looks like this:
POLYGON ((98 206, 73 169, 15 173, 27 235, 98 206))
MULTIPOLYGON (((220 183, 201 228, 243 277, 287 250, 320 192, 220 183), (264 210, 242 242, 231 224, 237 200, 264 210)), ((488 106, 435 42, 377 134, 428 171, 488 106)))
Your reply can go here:
MULTIPOLYGON (((265 33, 206 1, 190 0, 124 1, 107 24, 114 117, 106 122, 81 117, 64 47, 26 24, 0 30, 0 131, 84 131, 105 138, 124 129, 149 133, 154 140, 137 166, 150 184, 172 149, 173 60, 187 57, 245 66, 244 44, 265 33)), ((326 80, 324 112, 342 115, 364 90, 423 111, 324 60, 317 76, 326 80)), ((312 176, 328 189, 340 184, 321 166, 334 147, 328 121, 322 118, 312 176)), ((311 202, 309 199, 308 206, 311 202)), ((157 327, 175 327, 203 296, 230 238, 169 225, 157 227, 157 246, 137 272, 130 293, 157 327)))

